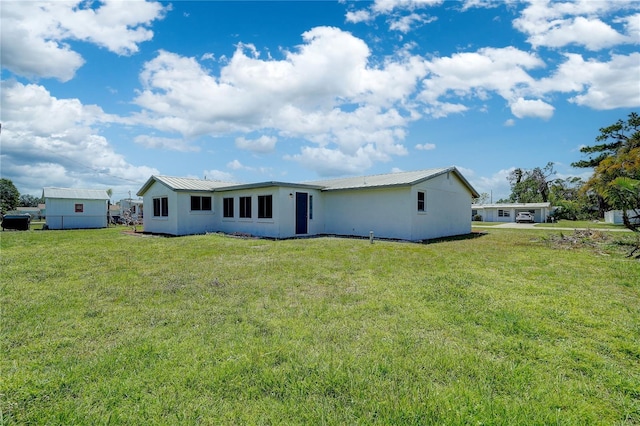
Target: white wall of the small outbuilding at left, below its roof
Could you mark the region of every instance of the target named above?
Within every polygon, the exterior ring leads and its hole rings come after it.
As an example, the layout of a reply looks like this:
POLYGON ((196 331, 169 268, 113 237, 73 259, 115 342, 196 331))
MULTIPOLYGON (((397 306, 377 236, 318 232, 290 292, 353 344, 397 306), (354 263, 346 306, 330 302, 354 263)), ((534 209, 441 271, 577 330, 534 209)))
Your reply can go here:
POLYGON ((107 200, 47 198, 46 224, 49 229, 87 229, 107 227, 107 200), (82 211, 76 211, 81 205, 82 211))

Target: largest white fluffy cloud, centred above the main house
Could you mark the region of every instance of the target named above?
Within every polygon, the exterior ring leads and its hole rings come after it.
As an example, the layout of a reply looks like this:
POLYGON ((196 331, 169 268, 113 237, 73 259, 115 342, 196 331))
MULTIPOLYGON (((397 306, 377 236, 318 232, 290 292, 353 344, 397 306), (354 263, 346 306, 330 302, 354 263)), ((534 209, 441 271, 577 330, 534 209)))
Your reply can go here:
MULTIPOLYGON (((317 161, 356 156, 359 163, 404 155, 406 125, 419 117, 407 103, 426 73, 425 61, 403 49, 379 66, 369 63, 361 39, 331 27, 303 34, 304 44, 281 60, 261 59, 239 44, 216 77, 194 58, 161 51, 141 73, 144 90, 135 99, 138 122, 187 137, 268 130, 317 144, 291 156, 311 168, 317 161), (339 48, 337 48, 339 46, 339 48), (329 155, 330 154, 330 155, 329 155)), ((264 152, 275 141, 239 139, 238 146, 264 152)))

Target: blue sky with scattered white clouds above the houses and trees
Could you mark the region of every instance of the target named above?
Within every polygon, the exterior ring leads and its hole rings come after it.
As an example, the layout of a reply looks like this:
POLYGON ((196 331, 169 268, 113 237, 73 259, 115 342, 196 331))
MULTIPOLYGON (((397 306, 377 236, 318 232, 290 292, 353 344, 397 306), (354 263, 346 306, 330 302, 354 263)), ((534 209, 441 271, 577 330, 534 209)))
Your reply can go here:
POLYGON ((572 169, 640 107, 638 1, 0 1, 0 171, 135 194, 152 175, 301 182, 572 169))

